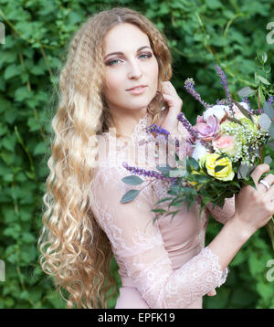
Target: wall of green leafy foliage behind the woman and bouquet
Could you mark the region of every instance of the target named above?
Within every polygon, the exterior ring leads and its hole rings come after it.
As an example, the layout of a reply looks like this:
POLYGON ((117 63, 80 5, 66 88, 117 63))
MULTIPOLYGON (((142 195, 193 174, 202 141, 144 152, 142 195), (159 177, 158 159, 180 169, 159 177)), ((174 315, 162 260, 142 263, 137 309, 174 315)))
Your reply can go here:
MULTIPOLYGON (((40 269, 37 237, 48 174, 50 119, 57 100, 57 72, 64 63, 72 33, 93 13, 113 6, 139 10, 169 40, 174 62, 171 80, 184 100, 186 117, 195 121, 202 106, 184 90, 184 79, 206 102, 225 97, 214 65, 227 74, 234 99, 237 90, 254 86, 254 58, 264 50, 273 65, 274 44, 266 26, 274 20, 272 0, 0 0, 5 44, 0 44, 0 308, 66 308, 40 269)), ((274 37, 273 37, 274 38, 274 37)), ((222 227, 212 217, 208 244, 222 227)), ((233 242, 233 239, 231 240, 233 242)), ((227 282, 204 308, 272 308, 274 281, 266 279, 274 258, 261 228, 230 263, 227 282)), ((111 271, 121 280, 113 259, 111 271)), ((109 302, 115 306, 116 297, 109 302)))

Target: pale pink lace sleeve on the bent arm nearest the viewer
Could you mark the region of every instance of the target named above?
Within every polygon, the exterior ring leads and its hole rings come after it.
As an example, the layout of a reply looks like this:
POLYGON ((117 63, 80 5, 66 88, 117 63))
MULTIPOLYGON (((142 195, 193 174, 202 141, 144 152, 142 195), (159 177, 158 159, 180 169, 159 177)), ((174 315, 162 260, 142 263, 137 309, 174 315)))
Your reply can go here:
POLYGON ((149 307, 184 308, 221 286, 228 269, 221 270, 210 248, 203 248, 181 268, 172 269, 157 220, 153 223, 152 188, 146 185, 132 202, 121 204, 126 189, 144 186, 125 187, 121 182, 125 175, 118 168, 101 169, 91 187, 90 205, 111 241, 117 262, 122 262, 149 307))

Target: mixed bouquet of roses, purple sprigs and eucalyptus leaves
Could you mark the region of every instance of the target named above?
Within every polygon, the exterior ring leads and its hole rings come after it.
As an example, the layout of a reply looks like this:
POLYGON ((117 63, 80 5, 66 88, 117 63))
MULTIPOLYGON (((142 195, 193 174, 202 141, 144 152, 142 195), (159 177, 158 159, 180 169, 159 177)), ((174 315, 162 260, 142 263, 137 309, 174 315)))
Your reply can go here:
MULTIPOLYGON (((146 175, 171 182, 167 194, 172 195, 158 201, 156 205, 168 202, 168 208, 178 208, 175 211, 166 211, 163 208, 154 208, 155 218, 172 215, 180 212, 184 202, 187 208, 195 202, 201 204, 200 215, 209 203, 223 207, 225 199, 237 195, 244 185, 256 185, 250 176, 259 163, 272 163, 274 150, 274 97, 262 103, 258 99, 258 108, 251 108, 248 97, 256 90, 246 87, 238 92, 242 97, 240 102, 233 100, 227 86, 227 78, 222 69, 216 65, 216 71, 226 91, 227 98, 216 100, 215 105, 207 104, 195 91, 194 79, 186 79, 185 89, 205 107, 201 116, 197 116, 194 126, 187 121, 184 113, 177 116, 189 137, 186 140, 184 159, 175 153, 177 165, 157 166, 158 172, 145 171, 138 167, 130 167, 123 163, 124 168, 132 172, 131 176, 122 181, 128 185, 139 185, 144 182, 136 176, 146 175)), ((260 82, 267 84, 267 79, 260 77, 260 82)), ((268 85, 268 84, 267 84, 268 85)), ((259 83, 258 98, 263 97, 264 87, 259 83)), ((147 128, 147 132, 169 136, 169 132, 157 125, 147 128)), ((179 140, 175 139, 176 146, 179 140)), ((262 176, 262 178, 264 175, 262 176)), ((130 190, 121 198, 121 203, 132 201, 140 191, 130 190)), ((274 218, 269 220, 267 230, 274 249, 274 218)))

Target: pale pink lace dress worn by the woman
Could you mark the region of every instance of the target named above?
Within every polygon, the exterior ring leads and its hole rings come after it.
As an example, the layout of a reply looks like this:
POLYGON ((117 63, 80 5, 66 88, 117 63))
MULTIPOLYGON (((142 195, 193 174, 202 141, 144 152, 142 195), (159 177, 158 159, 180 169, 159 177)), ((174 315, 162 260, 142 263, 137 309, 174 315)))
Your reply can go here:
MULTIPOLYGON (((155 161, 148 158, 153 153, 149 148, 153 135, 144 131, 150 123, 147 113, 136 125, 132 141, 138 144, 137 149, 143 147, 143 141, 148 145, 146 152, 139 153, 139 166, 142 158, 142 167, 157 171, 155 161)), ((180 133, 186 136, 187 131, 180 126, 180 133)), ((124 184, 121 179, 132 173, 121 163, 136 166, 132 147, 111 132, 104 132, 101 141, 108 145, 100 145, 100 153, 106 155, 101 156, 96 169, 90 201, 119 265, 121 288, 115 308, 201 309, 203 296, 225 283, 228 273, 228 268, 220 269, 216 254, 205 247, 208 216, 211 213, 225 224, 234 215, 234 198, 227 199, 223 209, 208 206, 201 218, 196 204, 189 211, 183 206, 173 219, 166 216, 153 222, 155 214, 151 210, 157 201, 170 196, 166 194, 169 182, 140 176, 144 180, 141 185, 124 184), (132 202, 121 204, 122 195, 130 189, 141 192, 132 202)))

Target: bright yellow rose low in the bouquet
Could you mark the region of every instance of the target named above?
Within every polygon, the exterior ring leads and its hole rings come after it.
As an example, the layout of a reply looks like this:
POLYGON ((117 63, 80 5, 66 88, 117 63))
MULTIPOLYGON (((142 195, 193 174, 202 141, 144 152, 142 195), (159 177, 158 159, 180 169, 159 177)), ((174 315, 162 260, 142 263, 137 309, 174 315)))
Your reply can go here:
POLYGON ((232 181, 234 178, 232 162, 227 157, 216 161, 219 156, 220 154, 217 153, 205 153, 200 159, 200 166, 205 164, 207 174, 214 176, 216 179, 221 181, 232 181), (215 172, 215 167, 217 165, 223 165, 224 168, 215 172))

